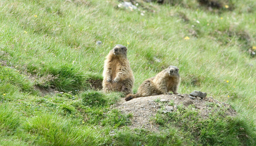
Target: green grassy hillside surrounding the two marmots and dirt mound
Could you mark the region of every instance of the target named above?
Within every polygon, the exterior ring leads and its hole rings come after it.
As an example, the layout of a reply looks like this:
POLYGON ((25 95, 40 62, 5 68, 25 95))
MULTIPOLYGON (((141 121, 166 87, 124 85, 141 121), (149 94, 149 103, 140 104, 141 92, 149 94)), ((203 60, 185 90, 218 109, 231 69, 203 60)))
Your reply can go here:
POLYGON ((137 0, 131 10, 117 0, 1 0, 0 145, 255 145, 256 1, 199 1, 137 0), (130 130, 132 115, 110 108, 123 95, 90 89, 116 44, 128 48, 134 92, 175 65, 179 93, 207 92, 238 116, 196 134, 130 130))

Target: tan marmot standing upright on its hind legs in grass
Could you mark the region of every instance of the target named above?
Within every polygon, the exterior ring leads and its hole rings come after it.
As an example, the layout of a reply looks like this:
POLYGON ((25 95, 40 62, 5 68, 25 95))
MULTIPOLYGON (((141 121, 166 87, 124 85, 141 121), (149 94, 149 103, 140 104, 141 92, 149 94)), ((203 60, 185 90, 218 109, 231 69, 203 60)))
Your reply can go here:
POLYGON ((132 93, 134 76, 127 59, 127 48, 116 45, 106 56, 102 87, 104 92, 121 91, 132 93))

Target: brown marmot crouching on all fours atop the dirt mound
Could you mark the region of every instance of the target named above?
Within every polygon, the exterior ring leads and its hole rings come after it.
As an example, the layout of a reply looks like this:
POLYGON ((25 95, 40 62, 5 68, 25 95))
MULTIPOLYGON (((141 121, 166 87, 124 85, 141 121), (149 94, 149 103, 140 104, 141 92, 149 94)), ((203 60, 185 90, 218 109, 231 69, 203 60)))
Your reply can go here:
POLYGON ((178 71, 179 69, 176 66, 169 66, 156 76, 143 81, 139 86, 138 93, 127 95, 125 100, 128 101, 133 98, 150 95, 169 94, 169 91, 178 94, 177 90, 180 84, 180 74, 178 71))

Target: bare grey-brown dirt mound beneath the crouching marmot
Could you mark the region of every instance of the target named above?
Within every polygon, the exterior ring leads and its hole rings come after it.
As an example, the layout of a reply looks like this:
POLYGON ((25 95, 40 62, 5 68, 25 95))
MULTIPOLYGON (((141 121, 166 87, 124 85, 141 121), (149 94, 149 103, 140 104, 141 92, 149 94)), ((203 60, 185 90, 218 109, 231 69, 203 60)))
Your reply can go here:
MULTIPOLYGON (((191 99, 189 95, 155 95, 148 97, 140 97, 125 101, 124 98, 116 105, 116 108, 119 109, 124 114, 131 113, 132 124, 131 128, 146 128, 153 131, 158 131, 158 125, 154 124, 151 119, 154 118, 155 114, 162 107, 173 107, 173 111, 177 110, 177 105, 183 104, 185 107, 189 105, 194 105, 195 110, 199 111, 202 118, 208 118, 209 113, 212 112, 212 104, 216 104, 217 107, 225 107, 227 109, 226 116, 235 116, 236 111, 234 111, 229 104, 221 103, 218 100, 208 98, 200 99, 198 97, 191 99), (172 106, 169 106, 170 103, 172 106), (165 106, 163 106, 165 105, 165 106)), ((169 109, 166 109, 168 112, 169 109)), ((171 112, 171 111, 169 111, 171 112)))

